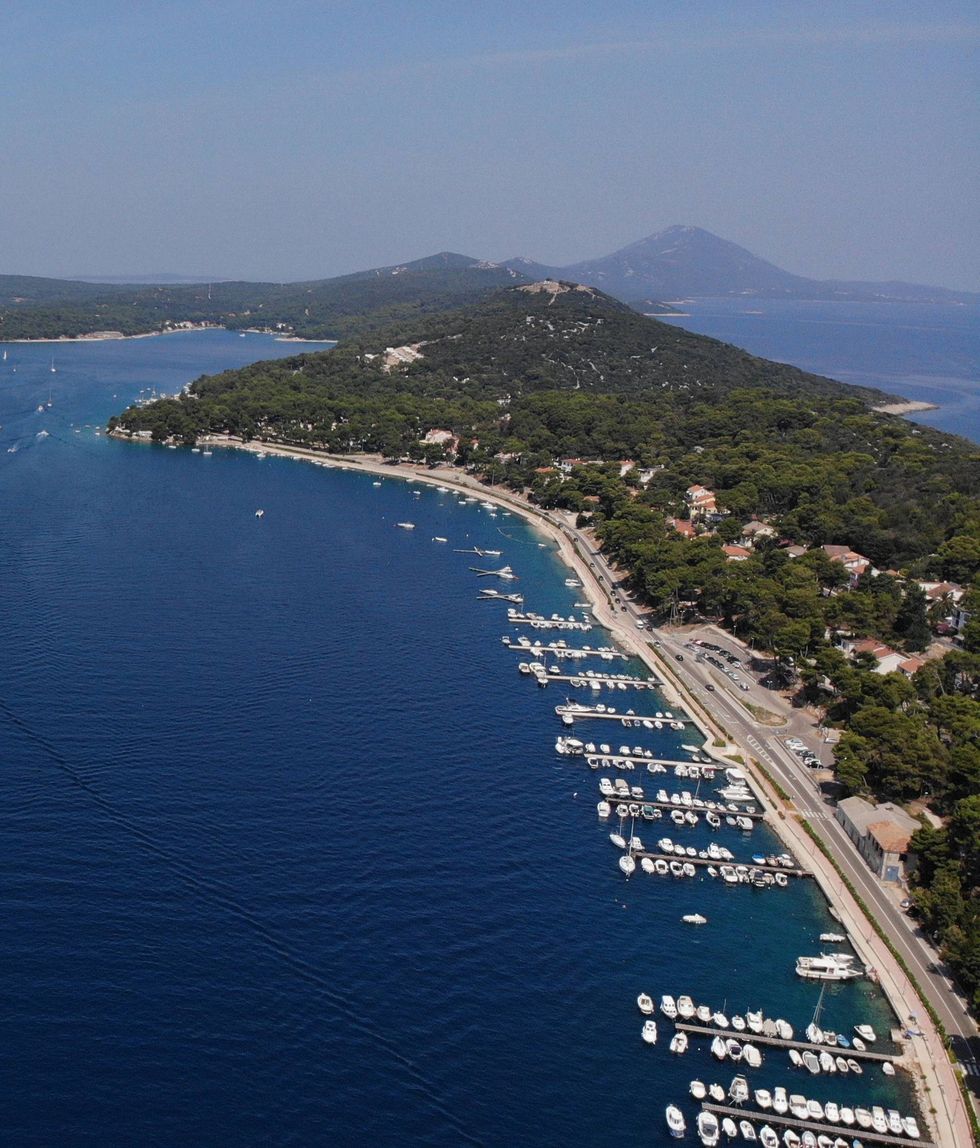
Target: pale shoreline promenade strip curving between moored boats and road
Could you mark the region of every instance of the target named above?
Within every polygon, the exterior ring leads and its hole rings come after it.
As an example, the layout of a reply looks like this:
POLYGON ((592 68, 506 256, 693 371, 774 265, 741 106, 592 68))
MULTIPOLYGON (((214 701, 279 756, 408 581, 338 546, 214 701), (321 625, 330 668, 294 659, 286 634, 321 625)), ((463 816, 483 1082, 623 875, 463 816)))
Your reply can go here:
MULTIPOLYGON (((148 440, 134 440, 125 433, 115 432, 114 437, 131 442, 147 442, 148 440)), ((285 458, 298 458, 313 461, 320 466, 334 467, 371 474, 380 478, 394 478, 400 481, 427 483, 433 487, 448 487, 465 491, 466 494, 479 494, 485 502, 493 502, 512 512, 519 513, 530 522, 545 537, 555 542, 558 552, 566 565, 575 573, 582 583, 582 592, 586 600, 592 603, 592 620, 606 629, 610 637, 617 642, 632 657, 640 659, 663 682, 659 687, 664 698, 676 706, 683 706, 691 721, 706 739, 702 752, 713 757, 720 766, 736 766, 742 769, 752 779, 753 790, 756 793, 759 804, 767 816, 767 824, 772 832, 795 854, 799 863, 808 869, 817 883, 826 903, 839 915, 848 940, 860 960, 872 967, 878 976, 881 992, 892 1009, 897 1023, 904 1025, 905 1018, 911 1014, 918 1014, 918 1027, 924 1033, 924 1038, 909 1039, 901 1045, 901 1055, 896 1057, 915 1086, 916 1095, 921 1109, 924 1123, 935 1126, 935 1143, 943 1148, 967 1148, 972 1143, 969 1124, 965 1112, 963 1125, 966 1135, 960 1134, 957 1128, 957 1110, 949 1111, 950 1100, 954 1106, 963 1103, 959 1091, 959 1081, 949 1061, 947 1052, 942 1045, 939 1032, 926 1013, 921 1015, 920 998, 911 984, 899 962, 893 956, 890 949, 882 939, 872 930, 868 914, 858 905, 854 895, 847 890, 830 859, 816 848, 815 843, 807 832, 808 822, 806 810, 799 810, 791 801, 788 806, 773 790, 768 777, 762 775, 759 762, 753 758, 752 751, 737 742, 728 738, 722 728, 717 724, 713 715, 706 711, 679 683, 672 667, 666 658, 660 657, 647 643, 646 631, 636 630, 624 626, 616 616, 615 607, 609 603, 607 594, 598 582, 594 573, 586 559, 578 552, 574 541, 567 536, 560 525, 550 519, 546 512, 532 507, 526 499, 508 491, 498 492, 495 488, 488 488, 477 479, 465 473, 452 473, 450 471, 429 471, 422 466, 417 470, 410 464, 387 465, 375 456, 352 457, 343 455, 328 455, 312 448, 287 447, 279 443, 266 442, 242 442, 232 437, 210 437, 199 440, 199 445, 226 447, 246 450, 250 453, 278 455, 285 458), (640 634, 644 637, 640 637, 640 634), (714 745, 715 740, 724 744, 714 745), (744 759, 744 765, 732 761, 730 754, 739 754, 744 759), (919 1042, 921 1040, 921 1044, 919 1042), (949 1092, 949 1089, 952 1089, 949 1092), (940 1101, 940 1096, 942 1101, 940 1101), (946 1112, 938 1108, 940 1103, 946 1107, 946 1112), (935 1109, 935 1111, 932 1111, 935 1109), (946 1119, 942 1119, 946 1117, 946 1119)))

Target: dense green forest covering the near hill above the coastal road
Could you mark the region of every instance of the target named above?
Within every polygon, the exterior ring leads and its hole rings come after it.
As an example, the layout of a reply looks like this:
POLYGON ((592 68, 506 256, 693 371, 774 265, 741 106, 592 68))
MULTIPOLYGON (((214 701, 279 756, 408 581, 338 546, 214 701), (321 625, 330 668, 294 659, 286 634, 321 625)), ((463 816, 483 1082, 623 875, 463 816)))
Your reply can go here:
POLYGON ((877 413, 884 398, 551 285, 205 377, 110 426, 157 441, 224 432, 433 464, 446 448, 422 440, 441 428, 458 436, 457 465, 571 511, 640 599, 717 619, 771 656, 800 703, 843 730, 845 792, 923 800, 949 819, 923 831, 918 895, 980 1003, 977 863, 960 847, 977 844, 980 622, 963 649, 911 678, 876 673, 871 654, 848 658, 834 643, 849 635, 924 651, 949 603, 928 600, 919 580, 959 583, 962 605, 980 607, 980 450, 877 413), (672 523, 687 517, 694 483, 726 513, 684 537, 672 523), (753 519, 772 535, 729 561, 723 545, 753 519), (790 543, 807 549, 791 557, 790 543), (877 574, 851 577, 825 543, 854 548, 877 574))

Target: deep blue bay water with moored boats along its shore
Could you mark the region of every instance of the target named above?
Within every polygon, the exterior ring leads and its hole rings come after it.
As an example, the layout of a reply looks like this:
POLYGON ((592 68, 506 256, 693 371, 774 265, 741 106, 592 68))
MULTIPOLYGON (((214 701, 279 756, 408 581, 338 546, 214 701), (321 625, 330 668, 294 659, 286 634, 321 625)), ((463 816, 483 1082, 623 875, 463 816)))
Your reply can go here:
MULTIPOLYGON (((619 871, 596 775, 553 752, 560 687, 518 673, 504 607, 453 553, 503 550, 510 589, 568 613, 531 527, 397 480, 96 435, 145 388, 288 343, 7 350, 6 1143, 666 1145, 664 1106, 692 1122, 689 1081, 732 1069, 701 1042, 670 1054, 666 1022, 644 1045, 639 992, 809 1022, 793 962, 833 928, 811 883, 619 871)), ((690 737, 624 734, 606 736, 690 737)), ((716 835, 739 859, 775 845, 744 837, 716 835)), ((887 1032, 879 992, 829 987, 825 1024, 857 1021, 887 1032)), ((770 1053, 752 1084, 780 1083, 911 1110, 878 1070, 803 1079, 770 1053)))

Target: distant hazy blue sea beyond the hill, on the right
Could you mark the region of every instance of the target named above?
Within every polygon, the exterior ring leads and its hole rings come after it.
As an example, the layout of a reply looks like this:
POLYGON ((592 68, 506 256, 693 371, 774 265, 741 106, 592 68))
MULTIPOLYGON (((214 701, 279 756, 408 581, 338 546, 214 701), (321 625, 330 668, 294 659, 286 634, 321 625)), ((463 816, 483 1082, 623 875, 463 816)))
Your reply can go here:
POLYGON ((698 300, 669 321, 938 411, 917 422, 980 442, 980 308, 928 303, 698 300))

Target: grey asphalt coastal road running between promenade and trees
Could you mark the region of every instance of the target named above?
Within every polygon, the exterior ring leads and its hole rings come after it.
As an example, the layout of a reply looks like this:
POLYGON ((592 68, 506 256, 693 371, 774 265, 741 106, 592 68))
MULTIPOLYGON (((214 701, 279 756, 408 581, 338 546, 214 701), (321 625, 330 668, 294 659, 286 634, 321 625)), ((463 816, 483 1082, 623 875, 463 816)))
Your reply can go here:
MULTIPOLYGON (((575 542, 580 552, 590 563, 599 584, 609 592, 612 600, 615 603, 617 598, 620 599, 622 605, 616 605, 617 614, 631 625, 644 621, 644 612, 619 587, 616 576, 601 552, 583 532, 559 514, 547 513, 544 517, 575 542)), ((817 742, 815 722, 796 711, 785 714, 787 724, 779 727, 779 732, 775 734, 770 727, 756 722, 740 699, 729 692, 730 683, 721 672, 695 661, 694 653, 684 649, 683 643, 689 641, 689 635, 680 637, 667 629, 659 629, 653 630, 653 636, 660 642, 661 654, 672 661, 674 673, 683 680, 701 708, 715 714, 732 737, 765 765, 770 774, 790 793, 796 809, 810 822, 923 986, 930 1003, 950 1035, 957 1060, 964 1063, 967 1084, 975 1091, 980 1083, 980 1066, 978 1066, 980 1037, 967 1011, 966 1001, 955 983, 946 975, 939 954, 928 938, 917 923, 902 912, 868 868, 843 827, 837 821, 834 807, 827 802, 811 773, 780 740, 781 737, 796 735, 815 745, 817 742), (684 658, 683 662, 677 661, 678 654, 684 658), (707 690, 709 683, 715 687, 714 691, 707 690)), ((756 705, 772 708, 772 696, 757 687, 749 675, 742 674, 742 677, 746 682, 752 682, 746 697, 756 705)), ((908 1002, 905 1021, 920 1008, 917 1000, 908 1002)))

